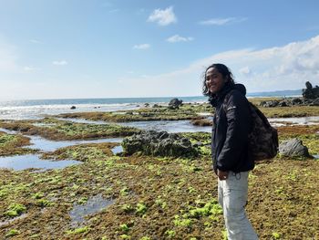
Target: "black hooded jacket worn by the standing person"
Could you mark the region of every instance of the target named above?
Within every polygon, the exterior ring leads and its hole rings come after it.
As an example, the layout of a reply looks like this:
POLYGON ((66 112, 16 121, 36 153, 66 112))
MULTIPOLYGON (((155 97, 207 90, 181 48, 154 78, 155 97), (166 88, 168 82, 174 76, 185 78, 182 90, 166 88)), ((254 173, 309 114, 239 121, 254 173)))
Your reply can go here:
POLYGON ((254 167, 248 151, 252 118, 245 94, 246 89, 242 84, 225 85, 221 92, 210 99, 211 105, 215 107, 211 132, 215 172, 217 169, 245 172, 254 167))

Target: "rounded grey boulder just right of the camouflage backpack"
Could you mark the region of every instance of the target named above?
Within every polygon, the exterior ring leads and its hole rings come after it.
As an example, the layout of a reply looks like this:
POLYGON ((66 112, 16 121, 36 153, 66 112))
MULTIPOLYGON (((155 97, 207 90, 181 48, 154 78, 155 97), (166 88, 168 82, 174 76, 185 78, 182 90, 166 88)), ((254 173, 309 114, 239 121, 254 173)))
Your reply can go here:
POLYGON ((279 152, 285 157, 312 157, 308 148, 303 145, 303 141, 298 139, 283 141, 279 144, 279 152))

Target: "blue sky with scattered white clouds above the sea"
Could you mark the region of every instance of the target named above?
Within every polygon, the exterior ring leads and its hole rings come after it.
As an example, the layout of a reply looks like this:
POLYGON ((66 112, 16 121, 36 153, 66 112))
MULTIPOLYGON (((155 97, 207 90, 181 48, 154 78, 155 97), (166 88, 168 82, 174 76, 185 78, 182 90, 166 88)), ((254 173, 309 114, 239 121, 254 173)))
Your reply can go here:
POLYGON ((317 0, 0 0, 0 99, 201 96, 319 85, 317 0))

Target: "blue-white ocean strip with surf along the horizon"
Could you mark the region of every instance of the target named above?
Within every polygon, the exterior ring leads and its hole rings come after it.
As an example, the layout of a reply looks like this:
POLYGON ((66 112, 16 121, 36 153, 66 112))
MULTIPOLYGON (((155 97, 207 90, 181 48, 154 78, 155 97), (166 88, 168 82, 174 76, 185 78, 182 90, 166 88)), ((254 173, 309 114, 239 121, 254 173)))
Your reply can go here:
MULTIPOLYGON (((290 93, 290 92, 289 92, 290 93)), ((281 93, 281 96, 288 97, 289 93, 281 93)), ((253 97, 274 97, 266 93, 248 94, 253 97)), ((277 97, 281 97, 277 96, 277 97)), ((170 99, 182 99, 187 102, 206 102, 207 97, 162 97, 162 98, 114 98, 114 99, 33 99, 33 100, 9 100, 0 101, 1 120, 26 120, 40 119, 45 115, 83 112, 83 111, 116 111, 134 110, 143 107, 145 103, 167 105, 170 99), (71 110, 75 106, 76 109, 71 110)))

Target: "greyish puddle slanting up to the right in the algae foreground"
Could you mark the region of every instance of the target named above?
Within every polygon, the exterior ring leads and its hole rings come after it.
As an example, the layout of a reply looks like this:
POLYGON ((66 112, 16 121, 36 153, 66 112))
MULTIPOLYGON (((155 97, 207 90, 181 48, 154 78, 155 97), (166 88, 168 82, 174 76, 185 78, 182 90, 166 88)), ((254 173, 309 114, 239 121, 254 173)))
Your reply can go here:
POLYGON ((87 200, 85 204, 74 203, 73 209, 70 211, 71 224, 76 226, 85 221, 85 216, 88 214, 96 214, 102 209, 114 203, 114 199, 104 199, 102 194, 93 196, 87 200))

